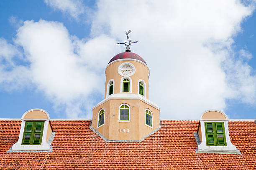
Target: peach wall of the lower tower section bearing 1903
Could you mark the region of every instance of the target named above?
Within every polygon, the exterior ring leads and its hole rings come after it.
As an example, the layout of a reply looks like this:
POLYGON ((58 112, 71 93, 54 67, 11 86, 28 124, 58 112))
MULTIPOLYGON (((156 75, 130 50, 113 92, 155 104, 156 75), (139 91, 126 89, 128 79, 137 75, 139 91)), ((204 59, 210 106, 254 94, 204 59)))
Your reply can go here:
POLYGON ((159 110, 141 100, 111 99, 93 110, 92 127, 108 140, 141 140, 145 135, 159 127, 159 110), (118 122, 119 106, 123 103, 130 106, 130 122, 118 122), (105 108, 105 123, 97 129, 97 114, 102 107, 105 108), (146 108, 152 111, 153 128, 145 125, 146 108), (129 129, 129 133, 120 133, 120 129, 129 129))

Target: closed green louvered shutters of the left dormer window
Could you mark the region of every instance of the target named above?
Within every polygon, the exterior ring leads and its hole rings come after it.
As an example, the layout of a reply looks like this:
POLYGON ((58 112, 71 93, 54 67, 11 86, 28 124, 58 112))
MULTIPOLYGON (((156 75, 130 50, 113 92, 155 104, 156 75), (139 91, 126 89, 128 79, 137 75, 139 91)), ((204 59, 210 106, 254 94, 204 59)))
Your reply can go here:
POLYGON ((44 121, 26 121, 21 145, 41 145, 44 121))

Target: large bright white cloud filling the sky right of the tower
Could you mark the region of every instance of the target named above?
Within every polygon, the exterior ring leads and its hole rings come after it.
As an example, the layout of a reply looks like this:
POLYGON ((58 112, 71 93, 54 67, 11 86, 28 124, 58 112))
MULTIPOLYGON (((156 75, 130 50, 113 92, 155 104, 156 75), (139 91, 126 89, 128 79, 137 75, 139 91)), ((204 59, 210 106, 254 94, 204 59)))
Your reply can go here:
POLYGON ((97 5, 91 35, 105 32, 124 40, 123 31, 133 31, 130 37, 139 44, 131 50, 151 69, 149 97, 161 107, 162 118, 198 118, 204 110, 225 110, 227 99, 255 104, 253 69, 232 57, 233 37, 253 4, 100 0, 97 5))

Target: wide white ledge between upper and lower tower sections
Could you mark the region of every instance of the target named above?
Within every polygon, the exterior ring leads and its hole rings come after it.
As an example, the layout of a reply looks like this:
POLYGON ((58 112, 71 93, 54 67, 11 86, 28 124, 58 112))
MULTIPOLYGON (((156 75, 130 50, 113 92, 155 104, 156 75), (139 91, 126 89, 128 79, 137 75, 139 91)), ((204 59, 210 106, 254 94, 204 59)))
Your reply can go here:
POLYGON ((105 98, 104 100, 102 100, 101 102, 99 102, 97 105, 95 105, 94 107, 92 107, 92 109, 95 109, 96 107, 98 107, 99 105, 102 105, 103 103, 107 102, 110 99, 120 99, 120 100, 141 100, 145 103, 147 103, 148 105, 151 105, 152 107, 156 108, 157 110, 160 110, 159 106, 156 105, 154 102, 146 99, 145 97, 142 97, 141 95, 138 94, 133 94, 133 93, 117 93, 117 94, 113 94, 107 98, 105 98))

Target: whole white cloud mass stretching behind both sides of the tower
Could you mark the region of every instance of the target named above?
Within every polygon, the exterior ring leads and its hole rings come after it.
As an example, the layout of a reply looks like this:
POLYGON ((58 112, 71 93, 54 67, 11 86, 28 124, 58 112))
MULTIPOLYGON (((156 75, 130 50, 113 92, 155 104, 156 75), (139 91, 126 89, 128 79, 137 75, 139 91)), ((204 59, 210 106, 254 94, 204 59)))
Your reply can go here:
POLYGON ((63 24, 40 20, 24 22, 15 42, 30 63, 28 79, 56 109, 65 107, 67 117, 90 117, 104 93, 105 66, 124 50, 115 42, 132 30, 139 43, 131 50, 148 63, 149 99, 161 107, 161 118, 199 118, 204 110, 225 110, 227 99, 256 104, 256 76, 246 62, 252 56, 232 50, 253 9, 236 0, 100 0, 90 38, 80 40, 63 24))

